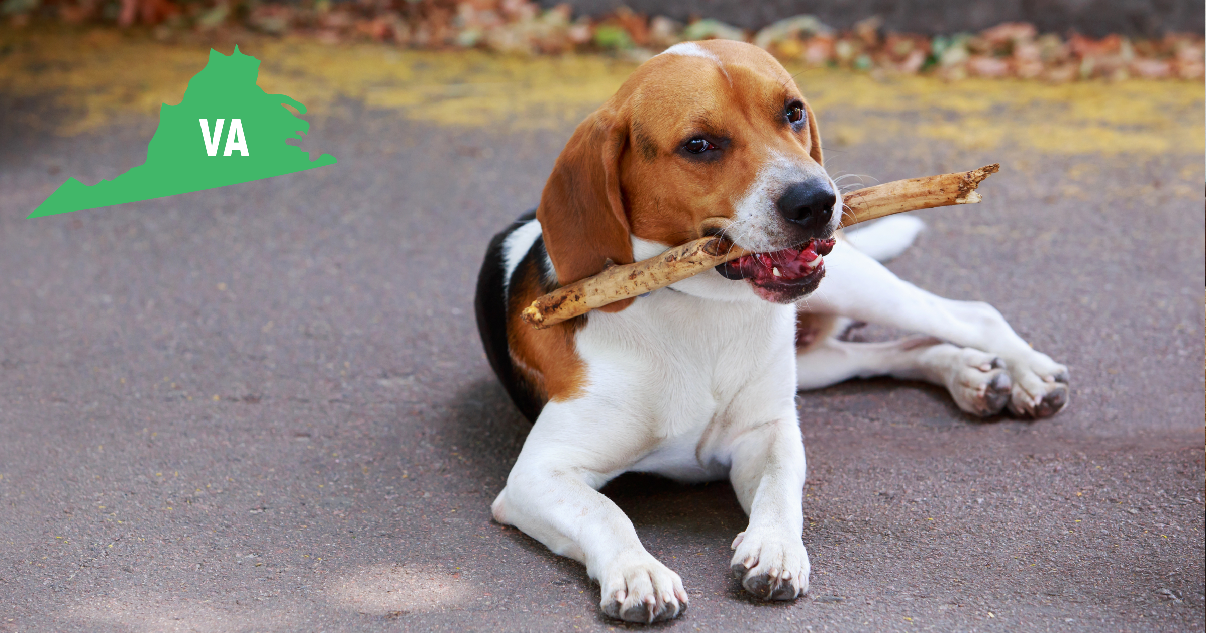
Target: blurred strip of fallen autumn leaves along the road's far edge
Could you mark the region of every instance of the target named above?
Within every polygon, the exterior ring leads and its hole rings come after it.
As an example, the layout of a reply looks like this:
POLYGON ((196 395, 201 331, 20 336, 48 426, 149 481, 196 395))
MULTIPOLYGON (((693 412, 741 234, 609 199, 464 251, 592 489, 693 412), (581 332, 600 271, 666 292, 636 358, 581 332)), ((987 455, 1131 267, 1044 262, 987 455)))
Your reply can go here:
POLYGON ((678 41, 726 37, 788 61, 950 78, 1202 76, 1204 10, 1192 0, 4 0, 0 14, 12 28, 140 27, 180 42, 251 31, 640 61, 678 41))

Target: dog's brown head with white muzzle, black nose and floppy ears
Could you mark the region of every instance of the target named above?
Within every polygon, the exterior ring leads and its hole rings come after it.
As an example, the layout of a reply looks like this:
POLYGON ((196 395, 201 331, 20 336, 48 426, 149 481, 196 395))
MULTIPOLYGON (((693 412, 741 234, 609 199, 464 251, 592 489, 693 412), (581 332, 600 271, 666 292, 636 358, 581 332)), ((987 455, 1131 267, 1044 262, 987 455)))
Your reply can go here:
POLYGON ((791 76, 756 46, 712 40, 654 57, 578 127, 537 217, 562 285, 609 259, 632 262, 634 242, 650 257, 724 233, 757 254, 692 288, 790 303, 820 283, 839 210, 816 121, 791 76))

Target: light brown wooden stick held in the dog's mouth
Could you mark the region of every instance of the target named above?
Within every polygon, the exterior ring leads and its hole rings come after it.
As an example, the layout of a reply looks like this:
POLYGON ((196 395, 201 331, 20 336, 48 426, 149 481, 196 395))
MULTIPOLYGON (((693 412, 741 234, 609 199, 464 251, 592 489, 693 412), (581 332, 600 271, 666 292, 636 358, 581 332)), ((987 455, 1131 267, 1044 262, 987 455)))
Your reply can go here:
MULTIPOLYGON (((843 197, 842 227, 892 213, 980 201, 976 187, 1001 169, 993 164, 971 171, 886 182, 843 197)), ((721 236, 704 236, 632 264, 610 264, 602 272, 562 286, 532 301, 520 315, 539 329, 596 307, 665 288, 709 268, 751 254, 721 236)))

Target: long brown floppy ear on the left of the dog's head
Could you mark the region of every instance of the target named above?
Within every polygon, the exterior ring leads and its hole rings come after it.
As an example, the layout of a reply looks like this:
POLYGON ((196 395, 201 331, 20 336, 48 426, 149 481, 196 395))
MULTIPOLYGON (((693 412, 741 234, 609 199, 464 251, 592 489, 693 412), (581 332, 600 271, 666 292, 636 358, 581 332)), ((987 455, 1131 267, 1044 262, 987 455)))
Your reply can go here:
MULTIPOLYGON (((535 217, 562 286, 603 270, 607 260, 632 263, 628 215, 620 194, 620 157, 628 124, 610 104, 586 118, 552 166, 535 217)), ((599 307, 619 312, 625 299, 599 307)))

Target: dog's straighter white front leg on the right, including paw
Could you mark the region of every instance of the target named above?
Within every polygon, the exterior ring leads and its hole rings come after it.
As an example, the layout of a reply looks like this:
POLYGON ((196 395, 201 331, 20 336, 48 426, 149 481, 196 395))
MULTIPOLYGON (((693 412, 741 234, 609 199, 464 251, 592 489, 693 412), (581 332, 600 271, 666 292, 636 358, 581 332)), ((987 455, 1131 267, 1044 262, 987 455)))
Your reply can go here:
POLYGON ((730 480, 750 516, 733 540, 733 574, 745 591, 766 600, 791 600, 808 591, 803 543, 804 444, 795 410, 761 424, 732 444, 730 480))

